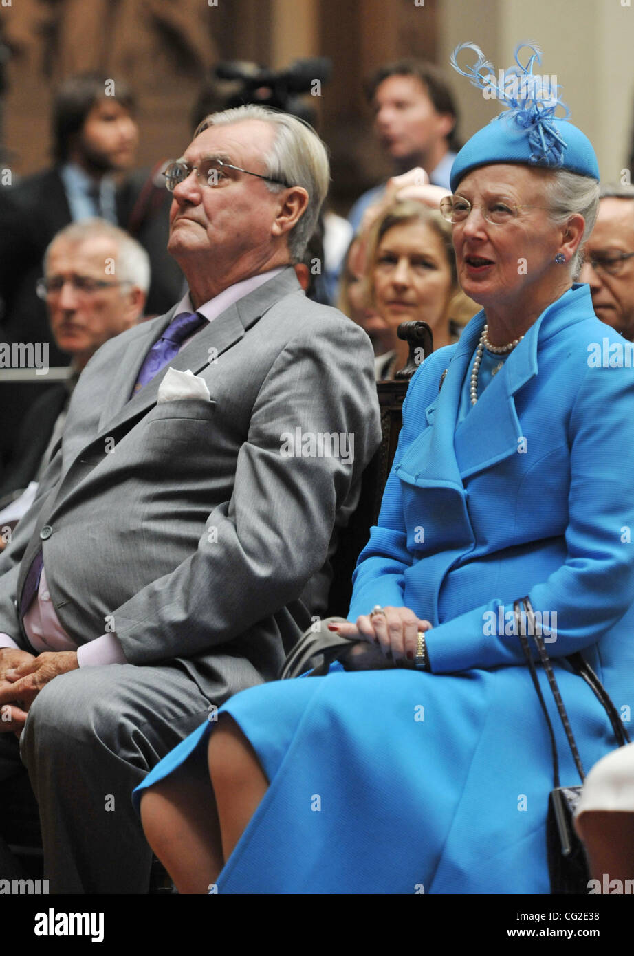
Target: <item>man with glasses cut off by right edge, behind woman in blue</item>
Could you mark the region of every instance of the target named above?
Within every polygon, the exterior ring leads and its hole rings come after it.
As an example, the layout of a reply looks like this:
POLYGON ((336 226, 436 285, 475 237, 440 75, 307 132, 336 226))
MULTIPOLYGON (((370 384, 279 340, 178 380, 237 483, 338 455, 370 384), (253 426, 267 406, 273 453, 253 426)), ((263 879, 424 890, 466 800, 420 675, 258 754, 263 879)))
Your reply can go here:
POLYGON ((587 282, 595 313, 634 341, 634 186, 601 187, 579 282, 587 282))

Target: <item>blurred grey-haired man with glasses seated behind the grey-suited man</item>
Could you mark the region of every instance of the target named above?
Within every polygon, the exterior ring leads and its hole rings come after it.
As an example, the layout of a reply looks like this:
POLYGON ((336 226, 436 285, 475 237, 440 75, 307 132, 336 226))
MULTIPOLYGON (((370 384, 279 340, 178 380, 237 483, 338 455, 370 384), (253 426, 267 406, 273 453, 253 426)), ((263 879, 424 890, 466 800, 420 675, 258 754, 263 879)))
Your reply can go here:
MULTIPOLYGON (((37 292, 46 302, 55 344, 71 356, 71 375, 43 389, 27 413, 0 481, 0 507, 11 499, 8 514, 0 511, 0 524, 16 521, 33 501, 35 483, 61 436, 79 373, 99 346, 142 316, 149 281, 146 251, 103 219, 72 223, 49 245, 37 292), (30 483, 29 495, 22 495, 30 483), (18 494, 21 503, 14 500, 18 494)), ((0 540, 0 548, 4 543, 0 540)))

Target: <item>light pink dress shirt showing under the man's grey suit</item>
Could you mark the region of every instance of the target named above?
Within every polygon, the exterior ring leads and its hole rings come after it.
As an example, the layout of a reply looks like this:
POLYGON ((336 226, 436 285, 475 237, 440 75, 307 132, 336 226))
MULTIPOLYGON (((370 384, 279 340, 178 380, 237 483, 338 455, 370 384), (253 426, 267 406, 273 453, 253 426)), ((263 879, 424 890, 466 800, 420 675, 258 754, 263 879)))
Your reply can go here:
MULTIPOLYGON (((236 282, 228 289, 216 295, 215 298, 209 299, 205 305, 196 311, 201 315, 205 315, 208 321, 212 322, 217 315, 220 315, 225 309, 228 309, 230 305, 237 302, 238 299, 243 298, 245 295, 253 292, 254 289, 264 285, 265 282, 268 282, 269 279, 273 279, 275 275, 278 275, 279 272, 282 272, 285 268, 284 266, 280 266, 277 269, 270 270, 270 272, 262 272, 260 275, 251 275, 249 279, 236 282)), ((194 309, 191 304, 191 299, 189 298, 189 293, 186 293, 177 305, 174 315, 193 311, 194 309)), ((200 329, 198 332, 200 332, 200 329)), ((187 338, 186 341, 183 342, 181 349, 184 349, 191 339, 198 335, 198 332, 195 332, 193 336, 187 338)), ((39 579, 37 596, 33 597, 31 606, 24 616, 24 630, 33 646, 33 650, 39 652, 77 650, 77 663, 80 667, 104 663, 125 663, 123 649, 117 639, 117 635, 114 633, 102 634, 101 637, 96 638, 95 641, 89 641, 86 644, 81 644, 81 646, 77 646, 77 642, 69 637, 62 627, 61 621, 55 614, 53 601, 51 600, 51 595, 49 594, 46 583, 46 571, 44 568, 42 568, 42 574, 39 579)), ((17 647, 17 644, 8 634, 0 633, 0 647, 17 647)))

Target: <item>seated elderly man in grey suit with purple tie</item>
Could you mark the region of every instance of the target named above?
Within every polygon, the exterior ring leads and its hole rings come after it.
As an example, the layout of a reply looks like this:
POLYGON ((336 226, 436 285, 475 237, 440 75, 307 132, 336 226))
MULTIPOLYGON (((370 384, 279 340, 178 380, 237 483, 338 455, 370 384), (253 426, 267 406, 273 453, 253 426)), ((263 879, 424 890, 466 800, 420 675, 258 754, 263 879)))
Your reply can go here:
POLYGON ((328 175, 293 117, 199 126, 166 170, 189 293, 86 366, 2 558, 0 804, 19 736, 52 892, 146 891, 133 787, 310 624, 380 441, 369 340, 291 265, 328 175))

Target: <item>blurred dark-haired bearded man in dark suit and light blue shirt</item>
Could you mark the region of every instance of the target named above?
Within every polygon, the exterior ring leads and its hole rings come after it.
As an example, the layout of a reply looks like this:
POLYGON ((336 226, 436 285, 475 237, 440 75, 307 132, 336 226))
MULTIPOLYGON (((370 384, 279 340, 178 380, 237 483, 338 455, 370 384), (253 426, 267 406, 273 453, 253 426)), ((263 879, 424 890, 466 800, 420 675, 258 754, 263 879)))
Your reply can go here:
MULTIPOLYGON (((44 303, 35 292, 44 250, 68 223, 101 217, 130 228, 147 248, 158 280, 150 288, 150 314, 163 313, 182 293, 184 279, 167 255, 169 197, 157 170, 139 171, 118 187, 136 162, 139 130, 128 85, 105 75, 71 76, 53 106, 54 165, 0 195, 0 336, 8 342, 46 342, 52 365, 68 363, 50 334, 44 303)), ((14 454, 19 424, 39 386, 14 383, 3 395, 0 458, 14 454)))

